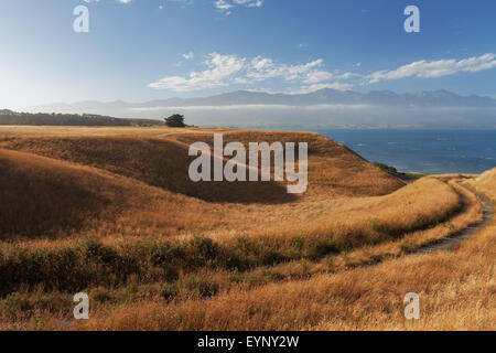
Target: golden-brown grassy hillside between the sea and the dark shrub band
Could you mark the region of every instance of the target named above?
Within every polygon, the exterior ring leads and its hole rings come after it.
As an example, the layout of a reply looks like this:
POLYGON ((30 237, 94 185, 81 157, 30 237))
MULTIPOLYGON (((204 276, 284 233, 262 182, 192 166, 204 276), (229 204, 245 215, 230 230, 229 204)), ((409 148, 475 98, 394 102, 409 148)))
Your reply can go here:
POLYGON ((424 227, 460 203, 436 180, 402 188, 402 181, 317 133, 224 130, 225 143, 309 142, 309 190, 290 195, 279 182, 191 182, 187 147, 211 141, 212 130, 150 129, 143 131, 153 136, 105 137, 83 131, 71 137, 11 136, 1 143, 10 149, 1 154, 8 201, 4 238, 204 235, 230 242, 242 234, 272 239, 272 245, 295 236, 316 244, 333 229, 332 243, 347 246, 359 243, 354 238, 378 242, 387 232, 424 227), (30 186, 22 190, 24 184, 30 186))

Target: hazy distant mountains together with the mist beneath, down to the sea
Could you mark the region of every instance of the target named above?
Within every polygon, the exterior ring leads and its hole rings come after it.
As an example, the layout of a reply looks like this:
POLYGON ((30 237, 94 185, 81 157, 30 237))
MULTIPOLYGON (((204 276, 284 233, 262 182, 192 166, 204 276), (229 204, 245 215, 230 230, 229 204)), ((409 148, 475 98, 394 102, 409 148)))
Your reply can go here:
POLYGON ((496 128, 496 99, 448 90, 397 94, 320 89, 308 94, 236 90, 209 97, 145 103, 86 100, 50 104, 33 113, 97 114, 162 119, 184 114, 188 124, 218 127, 496 128))

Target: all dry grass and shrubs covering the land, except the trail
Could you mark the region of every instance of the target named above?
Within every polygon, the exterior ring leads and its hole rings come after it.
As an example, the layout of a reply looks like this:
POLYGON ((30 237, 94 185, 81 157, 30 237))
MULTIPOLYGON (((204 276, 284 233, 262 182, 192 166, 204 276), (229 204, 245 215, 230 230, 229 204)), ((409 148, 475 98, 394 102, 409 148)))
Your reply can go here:
POLYGON ((213 131, 0 127, 0 329, 495 328, 494 225, 405 255, 479 220, 467 188, 496 200, 496 172, 406 185, 316 133, 215 130, 309 142, 309 191, 192 183, 187 147, 213 131))

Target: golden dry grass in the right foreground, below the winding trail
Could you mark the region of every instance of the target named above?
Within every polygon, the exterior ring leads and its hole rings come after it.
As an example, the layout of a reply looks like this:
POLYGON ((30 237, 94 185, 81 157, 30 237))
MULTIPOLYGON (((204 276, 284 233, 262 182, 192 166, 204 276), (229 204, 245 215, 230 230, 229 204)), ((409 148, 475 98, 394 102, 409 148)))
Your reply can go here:
MULTIPOLYGON (((495 176, 493 170, 471 185, 495 197, 495 176)), ((207 301, 101 308, 79 329, 495 330, 495 234, 493 221, 452 253, 413 255, 306 281, 233 290, 207 301), (411 291, 421 298, 418 321, 402 315, 403 296, 411 291)))

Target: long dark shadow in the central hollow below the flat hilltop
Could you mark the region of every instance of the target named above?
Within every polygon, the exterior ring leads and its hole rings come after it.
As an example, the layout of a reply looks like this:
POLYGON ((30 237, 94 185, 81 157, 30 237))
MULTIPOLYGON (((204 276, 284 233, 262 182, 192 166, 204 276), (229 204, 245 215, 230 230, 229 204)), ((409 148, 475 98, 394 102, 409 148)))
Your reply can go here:
POLYGON ((277 182, 193 182, 188 169, 196 157, 185 146, 162 139, 62 138, 17 142, 14 149, 105 169, 152 186, 207 202, 281 204, 298 197, 277 182))

